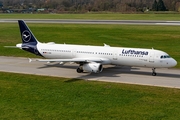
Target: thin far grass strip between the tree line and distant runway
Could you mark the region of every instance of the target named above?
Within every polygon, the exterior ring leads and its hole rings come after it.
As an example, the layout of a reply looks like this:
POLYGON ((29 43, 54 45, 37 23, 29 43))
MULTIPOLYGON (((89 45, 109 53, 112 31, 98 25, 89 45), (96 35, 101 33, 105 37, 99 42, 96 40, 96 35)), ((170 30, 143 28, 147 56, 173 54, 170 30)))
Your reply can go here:
POLYGON ((106 19, 106 20, 175 20, 179 14, 121 14, 121 13, 86 13, 86 14, 0 14, 0 19, 106 19))

